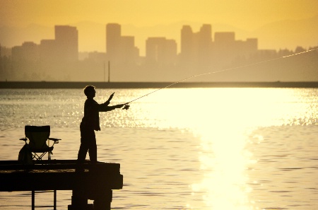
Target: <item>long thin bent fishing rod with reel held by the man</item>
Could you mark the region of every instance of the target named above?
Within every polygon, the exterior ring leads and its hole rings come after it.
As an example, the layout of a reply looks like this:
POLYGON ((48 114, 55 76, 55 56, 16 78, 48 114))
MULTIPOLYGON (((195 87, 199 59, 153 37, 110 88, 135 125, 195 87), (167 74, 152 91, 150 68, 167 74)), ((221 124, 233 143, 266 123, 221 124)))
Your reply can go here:
POLYGON ((308 49, 308 50, 306 50, 306 51, 304 51, 304 52, 298 52, 298 53, 286 55, 286 56, 283 56, 283 57, 268 59, 268 60, 265 60, 265 61, 262 61, 262 62, 256 62, 256 63, 253 63, 253 64, 246 64, 246 65, 243 65, 243 66, 237 66, 237 67, 232 67, 232 68, 228 68, 228 69, 221 69, 221 70, 219 70, 219 71, 211 71, 211 72, 206 72, 206 73, 202 73, 202 74, 195 74, 195 75, 189 76, 189 77, 187 77, 187 78, 182 78, 181 80, 176 81, 176 82, 174 82, 174 83, 171 83, 171 84, 168 85, 168 86, 165 86, 165 87, 163 87, 163 88, 158 88, 158 89, 155 90, 155 91, 151 91, 150 93, 147 93, 146 95, 142 95, 142 96, 139 97, 139 98, 136 98, 136 99, 134 99, 134 100, 131 100, 131 101, 125 103, 125 104, 124 104, 124 107, 123 107, 122 109, 123 109, 123 110, 128 110, 129 107, 130 107, 130 106, 129 106, 129 103, 134 102, 135 100, 139 100, 139 99, 141 99, 141 98, 143 98, 143 97, 146 97, 146 96, 148 96, 148 95, 151 95, 152 93, 155 93, 155 92, 157 92, 157 91, 163 90, 163 89, 165 89, 165 88, 169 88, 169 87, 171 87, 171 86, 173 86, 173 85, 175 85, 175 84, 177 84, 177 83, 180 83, 180 82, 182 82, 182 81, 187 81, 187 80, 190 79, 190 78, 194 78, 194 77, 197 77, 197 76, 204 76, 204 75, 208 75, 208 74, 217 74, 217 73, 220 73, 220 72, 223 72, 223 71, 236 70, 236 69, 241 69, 241 68, 245 68, 245 67, 249 67, 249 66, 256 66, 256 65, 259 65, 259 64, 267 63, 267 62, 273 62, 273 61, 278 60, 278 59, 284 59, 284 58, 287 58, 287 57, 293 57, 293 56, 296 56, 296 55, 299 55, 299 54, 304 54, 304 53, 307 53, 307 52, 312 52, 312 51, 314 51, 314 50, 318 50, 318 47, 317 47, 317 48, 314 48, 314 49, 308 49))

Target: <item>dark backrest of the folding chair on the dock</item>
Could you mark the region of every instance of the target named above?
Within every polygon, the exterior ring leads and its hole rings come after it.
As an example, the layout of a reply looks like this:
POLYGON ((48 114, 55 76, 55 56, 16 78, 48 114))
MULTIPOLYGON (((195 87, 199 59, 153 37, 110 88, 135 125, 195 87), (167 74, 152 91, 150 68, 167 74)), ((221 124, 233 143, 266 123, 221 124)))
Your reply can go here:
POLYGON ((47 148, 47 139, 51 128, 49 125, 45 126, 25 126, 25 137, 30 140, 31 148, 47 148))

